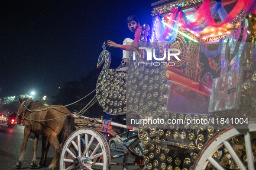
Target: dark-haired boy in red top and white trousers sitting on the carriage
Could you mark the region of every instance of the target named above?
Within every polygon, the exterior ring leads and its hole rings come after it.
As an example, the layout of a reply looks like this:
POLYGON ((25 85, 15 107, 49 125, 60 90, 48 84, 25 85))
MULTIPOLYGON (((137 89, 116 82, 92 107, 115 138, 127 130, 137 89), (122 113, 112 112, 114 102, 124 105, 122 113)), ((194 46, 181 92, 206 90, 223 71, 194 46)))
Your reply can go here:
POLYGON ((124 63, 124 67, 117 69, 117 71, 126 71, 128 67, 126 66, 126 63, 128 63, 129 57, 126 56, 126 51, 134 51, 134 47, 138 48, 139 47, 139 39, 141 37, 140 33, 142 32, 141 26, 139 24, 139 19, 135 15, 131 15, 126 19, 126 23, 128 25, 128 28, 130 31, 134 33, 134 40, 130 38, 126 38, 123 41, 123 44, 117 44, 113 41, 107 41, 107 46, 108 47, 115 47, 115 48, 120 48, 123 50, 123 60, 122 63, 124 63), (131 44, 132 42, 132 44, 131 44), (127 44, 131 45, 127 45, 127 44), (133 47, 132 47, 133 46, 133 47))

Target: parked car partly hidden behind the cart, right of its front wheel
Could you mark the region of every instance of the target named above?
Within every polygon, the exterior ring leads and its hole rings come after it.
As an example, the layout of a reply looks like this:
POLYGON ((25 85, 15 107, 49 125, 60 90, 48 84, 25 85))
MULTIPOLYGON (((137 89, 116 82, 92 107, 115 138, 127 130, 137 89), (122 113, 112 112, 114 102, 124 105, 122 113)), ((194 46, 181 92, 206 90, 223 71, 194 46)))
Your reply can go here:
MULTIPOLYGON (((137 131, 127 130, 126 132, 121 133, 119 136, 123 141, 125 141, 126 139, 133 137, 135 135, 138 135, 137 131)), ((126 146, 129 146, 130 143, 132 143, 134 140, 135 139, 128 140, 126 142, 126 146)), ((111 138, 108 143, 109 143, 110 151, 114 151, 115 149, 123 149, 123 145, 121 145, 121 143, 118 142, 118 140, 115 138, 111 138)), ((141 145, 141 148, 143 148, 143 145, 141 145)), ((137 152, 137 154, 142 154, 139 148, 135 148, 135 151, 137 152)))

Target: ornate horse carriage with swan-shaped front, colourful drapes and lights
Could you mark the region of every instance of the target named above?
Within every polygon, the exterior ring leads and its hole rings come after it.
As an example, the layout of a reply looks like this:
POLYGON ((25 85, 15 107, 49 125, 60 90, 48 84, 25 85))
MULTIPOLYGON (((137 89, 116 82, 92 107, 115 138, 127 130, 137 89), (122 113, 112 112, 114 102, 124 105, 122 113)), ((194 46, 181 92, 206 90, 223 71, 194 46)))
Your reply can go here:
POLYGON ((129 69, 109 69, 106 46, 97 64, 104 63, 97 100, 110 115, 126 114, 127 126, 73 114, 78 128, 63 144, 60 169, 254 170, 256 15, 250 14, 254 3, 153 3, 151 38, 149 26, 142 25, 141 51, 130 52, 129 69), (169 55, 177 49, 178 58, 169 55), (127 146, 117 128, 138 131, 138 139, 127 146), (124 154, 110 156, 101 132, 113 135, 124 154), (118 157, 123 161, 116 163, 118 157))

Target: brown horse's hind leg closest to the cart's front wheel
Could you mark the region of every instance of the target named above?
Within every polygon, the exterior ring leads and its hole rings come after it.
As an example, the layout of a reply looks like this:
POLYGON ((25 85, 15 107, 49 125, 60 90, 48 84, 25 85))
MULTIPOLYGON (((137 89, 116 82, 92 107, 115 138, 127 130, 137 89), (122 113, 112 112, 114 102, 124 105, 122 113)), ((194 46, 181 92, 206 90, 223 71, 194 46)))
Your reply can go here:
POLYGON ((58 142, 57 134, 52 132, 52 129, 45 129, 45 134, 47 135, 47 138, 55 151, 55 156, 53 157, 53 160, 48 168, 49 170, 55 170, 61 152, 61 145, 58 142))

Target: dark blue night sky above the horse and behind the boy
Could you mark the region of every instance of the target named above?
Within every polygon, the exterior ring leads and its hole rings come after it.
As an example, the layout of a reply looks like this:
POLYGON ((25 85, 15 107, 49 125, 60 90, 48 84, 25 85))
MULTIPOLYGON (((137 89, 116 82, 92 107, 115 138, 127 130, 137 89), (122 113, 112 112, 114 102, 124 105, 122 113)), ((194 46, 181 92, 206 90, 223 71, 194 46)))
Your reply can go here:
MULTIPOLYGON (((151 26, 158 0, 1 0, 0 97, 47 91, 96 68, 104 41, 134 38, 126 18, 151 26)), ((112 65, 122 51, 107 48, 112 65)))

